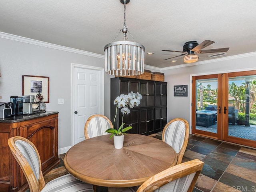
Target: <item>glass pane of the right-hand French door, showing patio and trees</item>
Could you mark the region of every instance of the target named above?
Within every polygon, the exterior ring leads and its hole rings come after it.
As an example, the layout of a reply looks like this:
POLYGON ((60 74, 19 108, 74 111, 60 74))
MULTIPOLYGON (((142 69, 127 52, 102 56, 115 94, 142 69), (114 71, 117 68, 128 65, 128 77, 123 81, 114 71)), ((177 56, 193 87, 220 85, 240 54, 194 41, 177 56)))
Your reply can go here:
POLYGON ((228 78, 228 136, 256 140, 256 75, 228 78))

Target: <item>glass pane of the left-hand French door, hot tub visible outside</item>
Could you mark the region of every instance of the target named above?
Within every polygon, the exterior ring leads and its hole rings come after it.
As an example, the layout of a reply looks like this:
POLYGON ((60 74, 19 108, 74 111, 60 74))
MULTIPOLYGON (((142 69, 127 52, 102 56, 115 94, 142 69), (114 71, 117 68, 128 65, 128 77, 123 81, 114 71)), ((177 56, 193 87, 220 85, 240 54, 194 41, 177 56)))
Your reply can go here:
POLYGON ((218 79, 196 80, 196 129, 217 133, 218 79))

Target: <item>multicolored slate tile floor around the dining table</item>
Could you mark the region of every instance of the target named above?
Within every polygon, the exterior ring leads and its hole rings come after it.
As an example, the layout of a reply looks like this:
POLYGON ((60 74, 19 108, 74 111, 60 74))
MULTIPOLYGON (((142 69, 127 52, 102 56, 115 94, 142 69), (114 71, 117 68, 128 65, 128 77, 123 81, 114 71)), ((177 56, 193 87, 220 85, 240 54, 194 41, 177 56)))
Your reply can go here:
MULTIPOLYGON (((162 139, 162 132, 151 136, 162 139)), ((45 176, 46 182, 67 174, 64 155, 60 155, 60 165, 45 176)), ((204 167, 193 192, 256 192, 256 149, 190 134, 182 162, 195 158, 204 167)), ((107 188, 98 186, 97 192, 107 192, 107 188)))

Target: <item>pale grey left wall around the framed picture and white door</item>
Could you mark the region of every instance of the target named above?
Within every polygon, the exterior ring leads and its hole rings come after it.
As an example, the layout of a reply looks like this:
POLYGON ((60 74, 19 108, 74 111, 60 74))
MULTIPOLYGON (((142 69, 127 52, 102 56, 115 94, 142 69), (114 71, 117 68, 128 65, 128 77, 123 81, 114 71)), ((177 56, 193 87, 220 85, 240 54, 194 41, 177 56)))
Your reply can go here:
MULTIPOLYGON (((50 103, 46 104, 46 110, 59 112, 59 150, 71 146, 71 63, 104 68, 104 56, 90 53, 88 55, 92 56, 88 56, 86 52, 77 52, 0 38, 0 101, 9 102, 10 96, 22 95, 22 75, 49 76, 50 103), (64 104, 58 104, 58 98, 64 98, 64 104)), ((104 76, 104 109, 108 118, 112 77, 107 74, 104 76)))

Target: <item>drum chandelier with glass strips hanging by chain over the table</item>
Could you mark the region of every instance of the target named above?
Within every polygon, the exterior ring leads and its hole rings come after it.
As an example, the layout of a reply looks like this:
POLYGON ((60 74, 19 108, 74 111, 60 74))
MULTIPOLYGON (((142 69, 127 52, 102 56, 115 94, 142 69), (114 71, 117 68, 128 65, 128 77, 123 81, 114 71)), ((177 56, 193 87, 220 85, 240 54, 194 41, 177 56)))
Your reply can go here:
POLYGON ((105 52, 105 72, 110 75, 130 76, 144 73, 144 53, 143 45, 136 43, 128 28, 126 27, 125 6, 130 0, 120 0, 124 4, 124 24, 122 31, 124 34, 123 41, 112 40, 111 43, 104 47, 105 52), (128 41, 127 33, 130 34, 134 42, 128 41))

